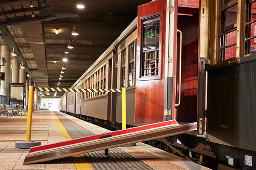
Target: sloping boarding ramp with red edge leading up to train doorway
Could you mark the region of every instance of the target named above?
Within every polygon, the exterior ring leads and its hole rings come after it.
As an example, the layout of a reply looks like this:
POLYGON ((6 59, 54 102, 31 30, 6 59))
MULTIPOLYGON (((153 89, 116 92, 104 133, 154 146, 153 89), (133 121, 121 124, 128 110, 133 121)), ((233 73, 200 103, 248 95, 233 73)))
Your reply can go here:
POLYGON ((31 147, 23 164, 50 161, 125 144, 174 136, 191 130, 196 130, 196 122, 179 125, 176 120, 170 120, 96 136, 31 147))

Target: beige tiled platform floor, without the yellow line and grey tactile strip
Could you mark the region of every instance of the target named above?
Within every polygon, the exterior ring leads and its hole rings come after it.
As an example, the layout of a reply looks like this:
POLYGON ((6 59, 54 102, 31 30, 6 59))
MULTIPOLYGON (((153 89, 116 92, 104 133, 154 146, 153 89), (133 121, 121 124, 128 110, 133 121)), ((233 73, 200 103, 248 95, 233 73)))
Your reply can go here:
MULTIPOLYGON (((108 132, 104 128, 97 127, 64 113, 61 114, 94 134, 108 132)), ((71 157, 39 164, 23 165, 28 149, 15 148, 15 142, 26 141, 26 123, 27 116, 0 118, 0 170, 77 170, 71 157)), ((63 141, 54 112, 33 112, 31 141, 41 141, 42 144, 63 141)), ((119 147, 119 149, 124 150, 156 170, 209 170, 143 143, 137 143, 137 146, 132 147, 119 147)))

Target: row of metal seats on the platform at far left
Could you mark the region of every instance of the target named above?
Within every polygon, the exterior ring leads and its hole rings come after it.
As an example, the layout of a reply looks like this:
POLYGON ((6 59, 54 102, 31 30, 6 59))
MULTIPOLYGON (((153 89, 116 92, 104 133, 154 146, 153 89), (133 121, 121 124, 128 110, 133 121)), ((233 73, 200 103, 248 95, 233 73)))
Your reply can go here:
POLYGON ((23 105, 14 104, 11 105, 0 104, 0 117, 11 117, 11 116, 26 116, 26 108, 23 108, 23 105))

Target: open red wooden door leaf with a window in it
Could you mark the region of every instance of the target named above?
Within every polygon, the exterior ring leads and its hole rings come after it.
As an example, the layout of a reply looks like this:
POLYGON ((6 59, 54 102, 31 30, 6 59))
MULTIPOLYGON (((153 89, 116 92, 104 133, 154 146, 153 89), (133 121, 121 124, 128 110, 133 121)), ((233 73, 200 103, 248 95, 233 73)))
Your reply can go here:
POLYGON ((166 0, 138 7, 135 123, 164 121, 166 0))

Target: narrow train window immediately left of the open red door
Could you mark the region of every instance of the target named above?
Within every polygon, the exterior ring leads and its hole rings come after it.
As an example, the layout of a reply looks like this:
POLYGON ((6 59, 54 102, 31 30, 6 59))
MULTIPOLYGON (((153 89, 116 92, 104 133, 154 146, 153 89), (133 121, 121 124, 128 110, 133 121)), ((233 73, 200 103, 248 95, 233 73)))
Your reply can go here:
POLYGON ((135 43, 128 46, 128 59, 129 59, 129 72, 128 72, 128 86, 134 85, 134 56, 135 56, 135 43))

